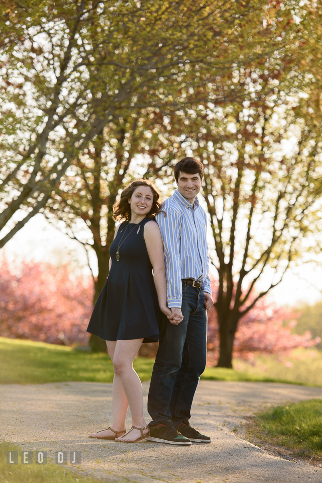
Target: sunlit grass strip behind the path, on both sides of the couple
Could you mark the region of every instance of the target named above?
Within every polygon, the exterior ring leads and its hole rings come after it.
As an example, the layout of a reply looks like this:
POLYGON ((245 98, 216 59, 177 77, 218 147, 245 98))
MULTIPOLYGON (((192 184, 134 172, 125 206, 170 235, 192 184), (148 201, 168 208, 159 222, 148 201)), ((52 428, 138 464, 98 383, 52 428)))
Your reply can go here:
MULTIPOLYGON (((322 386, 322 354, 315 358, 300 353, 293 368, 286 368, 274 358, 258 358, 255 367, 234 361, 241 369, 207 367, 201 379, 229 381, 291 382, 322 386), (263 364, 267 370, 263 371, 263 364)), ((135 370, 142 381, 149 380, 153 360, 138 357, 135 370)), ((102 353, 78 352, 70 347, 43 342, 0 337, 0 383, 35 384, 60 381, 112 382, 113 365, 102 353)))

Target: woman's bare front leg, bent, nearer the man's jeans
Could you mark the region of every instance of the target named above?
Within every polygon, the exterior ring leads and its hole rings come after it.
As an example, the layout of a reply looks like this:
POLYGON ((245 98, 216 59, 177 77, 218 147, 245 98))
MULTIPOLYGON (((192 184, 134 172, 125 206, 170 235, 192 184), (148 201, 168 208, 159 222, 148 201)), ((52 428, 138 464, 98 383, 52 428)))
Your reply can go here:
MULTIPOLYGON (((143 417, 142 384, 133 368, 133 360, 140 349, 142 341, 143 339, 117 341, 113 359, 115 374, 119 376, 129 402, 132 424, 138 428, 146 426, 146 422, 143 417)), ((144 433, 148 433, 148 430, 145 430, 144 433)), ((117 439, 118 441, 134 441, 140 436, 141 432, 134 429, 125 437, 120 436, 117 439)))

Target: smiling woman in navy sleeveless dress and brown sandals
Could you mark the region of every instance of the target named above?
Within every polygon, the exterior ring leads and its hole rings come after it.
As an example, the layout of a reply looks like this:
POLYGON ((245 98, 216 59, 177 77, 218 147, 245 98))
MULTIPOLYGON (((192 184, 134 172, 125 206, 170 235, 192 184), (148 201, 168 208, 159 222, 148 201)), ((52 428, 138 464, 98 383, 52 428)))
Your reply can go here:
POLYGON ((153 183, 141 179, 128 185, 114 205, 113 218, 125 222, 116 229, 108 280, 87 328, 87 332, 106 340, 113 362, 113 423, 90 438, 135 443, 150 434, 143 416, 142 384, 133 360, 142 342, 158 341, 159 310, 171 316, 166 301, 163 243, 153 216, 160 210, 158 199, 153 183), (125 433, 129 406, 133 426, 125 433))

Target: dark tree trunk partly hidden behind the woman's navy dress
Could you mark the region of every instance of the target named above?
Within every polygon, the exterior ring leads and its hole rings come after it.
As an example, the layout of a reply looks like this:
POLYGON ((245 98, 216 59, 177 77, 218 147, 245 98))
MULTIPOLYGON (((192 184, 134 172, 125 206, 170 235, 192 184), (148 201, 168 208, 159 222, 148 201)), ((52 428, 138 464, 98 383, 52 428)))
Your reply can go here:
MULTIPOLYGON (((94 246, 96 255, 97 255, 97 262, 98 262, 98 276, 97 280, 95 281, 95 293, 94 293, 94 304, 100 294, 105 282, 106 277, 109 274, 109 260, 110 260, 110 251, 108 246, 102 247, 94 246)), ((117 301, 116 301, 117 303, 117 301)), ((89 339, 89 347, 93 352, 106 352, 106 342, 98 336, 91 334, 89 339)))

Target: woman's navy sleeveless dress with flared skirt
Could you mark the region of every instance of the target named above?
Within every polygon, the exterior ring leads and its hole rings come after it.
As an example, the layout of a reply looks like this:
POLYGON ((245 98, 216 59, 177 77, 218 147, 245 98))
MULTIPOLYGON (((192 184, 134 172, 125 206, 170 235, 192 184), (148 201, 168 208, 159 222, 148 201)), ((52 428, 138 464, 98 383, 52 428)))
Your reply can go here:
POLYGON ((156 223, 151 218, 143 218, 137 224, 122 223, 111 245, 109 277, 87 327, 87 332, 106 341, 159 340, 160 308, 143 237, 144 225, 148 222, 156 223), (117 261, 116 252, 122 236, 120 260, 117 261))

